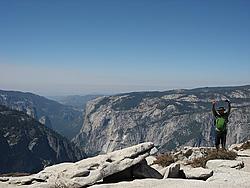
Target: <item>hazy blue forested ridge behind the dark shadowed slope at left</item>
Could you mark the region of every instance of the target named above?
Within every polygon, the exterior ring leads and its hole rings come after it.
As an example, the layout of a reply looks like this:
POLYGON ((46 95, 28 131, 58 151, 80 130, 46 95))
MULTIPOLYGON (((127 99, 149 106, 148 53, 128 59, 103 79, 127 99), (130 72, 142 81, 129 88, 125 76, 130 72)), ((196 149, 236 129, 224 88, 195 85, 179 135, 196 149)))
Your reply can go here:
POLYGON ((83 123, 81 110, 33 93, 0 90, 0 105, 23 111, 69 139, 79 133, 83 123))

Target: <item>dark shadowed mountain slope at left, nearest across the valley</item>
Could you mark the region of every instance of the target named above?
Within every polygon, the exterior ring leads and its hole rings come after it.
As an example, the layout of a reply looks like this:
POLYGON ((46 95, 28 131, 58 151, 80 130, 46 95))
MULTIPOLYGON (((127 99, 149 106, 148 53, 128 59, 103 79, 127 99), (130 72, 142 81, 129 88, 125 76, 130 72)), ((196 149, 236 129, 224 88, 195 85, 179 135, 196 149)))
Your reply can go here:
POLYGON ((38 172, 85 154, 27 114, 0 105, 0 173, 38 172))

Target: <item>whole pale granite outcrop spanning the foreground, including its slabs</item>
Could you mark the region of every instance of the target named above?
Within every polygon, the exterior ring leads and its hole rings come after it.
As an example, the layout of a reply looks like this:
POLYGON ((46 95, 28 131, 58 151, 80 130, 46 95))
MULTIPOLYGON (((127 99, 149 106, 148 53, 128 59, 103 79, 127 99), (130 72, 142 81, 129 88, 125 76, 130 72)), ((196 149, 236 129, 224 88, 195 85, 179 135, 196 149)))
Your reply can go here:
MULTIPOLYGON (((165 170, 162 174, 165 179, 159 179, 163 176, 155 169, 152 170, 151 167, 156 164, 152 162, 153 157, 148 157, 153 147, 153 143, 143 143, 76 163, 62 163, 47 167, 31 176, 0 177, 0 187, 16 188, 20 185, 23 188, 78 188, 85 186, 91 188, 250 187, 250 169, 245 169, 246 166, 250 165, 250 161, 245 160, 247 164, 243 166, 242 157, 238 157, 236 160, 209 160, 207 162, 208 168, 193 168, 185 164, 186 160, 177 161, 160 169, 159 172, 165 170), (149 163, 151 166, 147 164, 145 159, 151 161, 149 163)), ((186 157, 190 157, 191 153, 198 150, 194 149, 193 151, 189 147, 188 150, 178 151, 176 156, 180 157, 180 153, 182 153, 186 157), (186 151, 189 154, 186 154, 186 151)), ((208 150, 210 149, 208 148, 208 150)), ((201 150, 204 151, 205 148, 201 150)), ((245 153, 249 152, 248 149, 244 151, 245 153)))

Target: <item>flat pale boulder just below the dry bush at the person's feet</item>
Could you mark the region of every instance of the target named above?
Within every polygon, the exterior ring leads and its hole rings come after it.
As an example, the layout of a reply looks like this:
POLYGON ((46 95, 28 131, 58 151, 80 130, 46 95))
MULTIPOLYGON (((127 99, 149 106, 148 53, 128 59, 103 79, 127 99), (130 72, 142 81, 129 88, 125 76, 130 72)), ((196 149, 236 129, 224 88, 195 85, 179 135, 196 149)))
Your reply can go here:
POLYGON ((236 160, 215 159, 209 160, 206 163, 206 167, 214 171, 222 171, 224 169, 227 170, 228 168, 241 169, 244 167, 244 163, 236 160))

